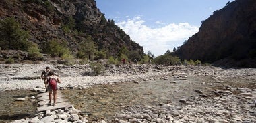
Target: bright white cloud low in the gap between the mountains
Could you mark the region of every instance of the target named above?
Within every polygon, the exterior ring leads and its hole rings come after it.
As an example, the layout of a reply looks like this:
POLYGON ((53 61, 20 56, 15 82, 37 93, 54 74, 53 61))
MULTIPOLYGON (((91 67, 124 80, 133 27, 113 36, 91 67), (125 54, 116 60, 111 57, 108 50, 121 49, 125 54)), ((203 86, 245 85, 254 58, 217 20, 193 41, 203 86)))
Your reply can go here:
MULTIPOLYGON (((146 52, 151 51, 155 56, 166 53, 169 49, 181 46, 183 42, 197 33, 198 27, 189 23, 170 23, 164 27, 150 28, 144 25, 140 17, 127 19, 116 23, 131 39, 143 46, 146 52)), ((160 21, 159 21, 160 22, 160 21)))

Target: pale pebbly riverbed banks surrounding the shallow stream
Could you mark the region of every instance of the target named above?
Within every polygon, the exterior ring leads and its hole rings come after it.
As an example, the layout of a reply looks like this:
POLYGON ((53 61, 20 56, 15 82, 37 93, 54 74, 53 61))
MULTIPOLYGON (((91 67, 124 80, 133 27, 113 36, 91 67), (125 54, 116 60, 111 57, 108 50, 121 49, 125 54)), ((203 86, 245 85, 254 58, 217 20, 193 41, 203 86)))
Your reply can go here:
MULTIPOLYGON (((177 80, 210 78, 186 83, 197 85, 195 97, 179 97, 179 103, 166 102, 156 106, 129 106, 111 121, 98 122, 256 122, 256 69, 234 69, 197 66, 106 65, 100 76, 88 76, 88 65, 75 64, 1 64, 0 90, 43 90, 40 73, 46 66, 63 80, 62 89, 85 89, 95 84, 117 84, 162 79, 179 84, 177 80), (172 78, 176 78, 172 80, 172 78), (198 89, 199 88, 199 89, 198 89)), ((190 86, 190 85, 186 85, 190 86)), ((185 89, 186 88, 181 88, 185 89)), ((189 91, 189 90, 187 90, 189 91)), ((86 116, 71 109, 44 112, 35 118, 15 122, 90 122, 86 116), (76 115, 75 115, 76 114, 76 115), (72 117, 71 117, 72 116, 72 117), (78 116, 78 117, 77 117, 78 116), (36 120, 33 120, 36 119, 36 120), (71 120, 72 119, 72 120, 71 120), (73 120, 75 119, 75 120, 73 120), (48 121, 48 120, 47 120, 48 121)))

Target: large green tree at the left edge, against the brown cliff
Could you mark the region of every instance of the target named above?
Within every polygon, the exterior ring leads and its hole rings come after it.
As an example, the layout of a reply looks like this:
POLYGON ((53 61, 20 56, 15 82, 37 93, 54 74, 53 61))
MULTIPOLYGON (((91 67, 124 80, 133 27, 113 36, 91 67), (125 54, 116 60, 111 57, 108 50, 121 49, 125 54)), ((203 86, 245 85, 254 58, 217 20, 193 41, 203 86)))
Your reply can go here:
POLYGON ((0 20, 1 49, 19 49, 27 51, 30 43, 28 31, 21 29, 20 24, 13 17, 0 20))

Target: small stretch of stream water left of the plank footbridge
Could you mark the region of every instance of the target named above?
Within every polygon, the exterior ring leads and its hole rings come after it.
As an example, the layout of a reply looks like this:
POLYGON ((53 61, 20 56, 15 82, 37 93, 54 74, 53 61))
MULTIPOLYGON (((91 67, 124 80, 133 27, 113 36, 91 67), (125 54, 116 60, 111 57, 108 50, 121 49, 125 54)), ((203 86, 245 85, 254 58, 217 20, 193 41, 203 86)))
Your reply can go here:
POLYGON ((36 102, 31 102, 30 99, 36 94, 29 90, 0 92, 0 122, 29 118, 36 114, 36 102), (26 100, 15 101, 16 98, 26 98, 26 100))

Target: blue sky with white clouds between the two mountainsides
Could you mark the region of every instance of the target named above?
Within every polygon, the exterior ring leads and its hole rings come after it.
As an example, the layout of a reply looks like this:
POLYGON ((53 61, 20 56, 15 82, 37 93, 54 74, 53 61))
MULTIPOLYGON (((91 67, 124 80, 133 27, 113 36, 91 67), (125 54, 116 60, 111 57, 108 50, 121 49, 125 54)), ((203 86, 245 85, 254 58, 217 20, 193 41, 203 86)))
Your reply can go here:
POLYGON ((201 21, 234 0, 96 0, 106 19, 113 19, 144 52, 155 56, 181 46, 201 21))

